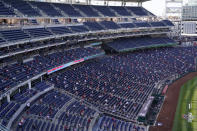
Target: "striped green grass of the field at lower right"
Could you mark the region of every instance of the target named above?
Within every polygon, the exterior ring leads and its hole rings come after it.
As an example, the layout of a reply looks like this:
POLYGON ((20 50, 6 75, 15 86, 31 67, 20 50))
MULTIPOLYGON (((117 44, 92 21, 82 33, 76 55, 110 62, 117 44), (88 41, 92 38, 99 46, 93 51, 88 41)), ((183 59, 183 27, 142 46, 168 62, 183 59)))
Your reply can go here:
POLYGON ((181 87, 173 131, 197 131, 197 77, 188 81, 181 87), (191 108, 189 109, 189 104, 191 108), (192 113, 193 120, 188 122, 184 114, 192 113))

